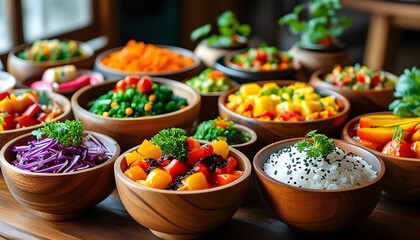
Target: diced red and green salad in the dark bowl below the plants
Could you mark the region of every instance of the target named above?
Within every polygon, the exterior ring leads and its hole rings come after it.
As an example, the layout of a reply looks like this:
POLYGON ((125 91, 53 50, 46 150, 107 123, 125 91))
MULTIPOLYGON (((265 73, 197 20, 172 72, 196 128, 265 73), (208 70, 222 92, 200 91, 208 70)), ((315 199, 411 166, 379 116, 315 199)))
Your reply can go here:
POLYGON ((292 55, 281 52, 273 46, 250 48, 244 53, 236 54, 232 62, 248 71, 285 70, 292 66, 292 55))

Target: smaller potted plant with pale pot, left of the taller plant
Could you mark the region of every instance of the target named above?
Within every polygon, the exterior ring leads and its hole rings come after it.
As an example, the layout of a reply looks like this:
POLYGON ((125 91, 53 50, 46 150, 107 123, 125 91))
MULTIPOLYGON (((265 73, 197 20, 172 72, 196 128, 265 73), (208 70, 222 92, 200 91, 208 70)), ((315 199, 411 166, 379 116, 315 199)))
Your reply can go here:
POLYGON ((212 25, 207 23, 194 29, 190 38, 195 41, 203 38, 194 50, 194 53, 207 67, 213 67, 215 61, 226 53, 246 48, 251 26, 241 24, 232 11, 225 11, 217 18, 218 34, 210 35, 212 25))

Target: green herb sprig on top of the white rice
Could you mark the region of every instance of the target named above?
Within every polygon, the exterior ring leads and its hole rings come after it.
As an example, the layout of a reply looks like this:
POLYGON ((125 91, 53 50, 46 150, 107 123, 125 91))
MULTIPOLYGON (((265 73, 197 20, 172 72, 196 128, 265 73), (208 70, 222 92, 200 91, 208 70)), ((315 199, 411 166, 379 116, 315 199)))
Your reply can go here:
POLYGON ((312 130, 306 136, 312 141, 301 140, 296 143, 296 147, 299 152, 306 151, 309 158, 325 157, 334 151, 334 141, 324 134, 318 134, 316 130, 312 130))

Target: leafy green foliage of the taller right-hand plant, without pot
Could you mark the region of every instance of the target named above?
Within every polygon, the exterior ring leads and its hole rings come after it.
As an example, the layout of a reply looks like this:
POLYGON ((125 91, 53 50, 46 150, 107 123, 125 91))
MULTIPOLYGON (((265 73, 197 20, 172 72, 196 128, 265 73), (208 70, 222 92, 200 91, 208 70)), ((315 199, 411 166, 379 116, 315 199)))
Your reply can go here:
POLYGON ((278 24, 288 25, 293 34, 300 35, 303 46, 332 47, 352 23, 349 17, 337 16, 337 10, 341 8, 340 0, 310 0, 295 6, 293 12, 278 20, 278 24))

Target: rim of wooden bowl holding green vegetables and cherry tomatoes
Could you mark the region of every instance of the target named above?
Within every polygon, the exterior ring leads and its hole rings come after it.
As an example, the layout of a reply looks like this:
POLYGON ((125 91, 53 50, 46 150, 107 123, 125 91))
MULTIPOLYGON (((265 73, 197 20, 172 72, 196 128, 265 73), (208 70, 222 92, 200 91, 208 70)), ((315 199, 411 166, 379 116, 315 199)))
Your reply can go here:
MULTIPOLYGON (((169 118, 171 116, 174 115, 182 115, 185 112, 190 111, 191 109, 194 109, 196 107, 197 104, 201 103, 201 95, 192 87, 183 84, 181 82, 175 81, 175 80, 171 80, 171 79, 167 79, 167 78, 161 78, 161 77, 152 77, 152 81, 159 83, 161 85, 175 85, 176 87, 181 87, 182 89, 184 89, 185 91, 189 92, 192 96, 194 96, 193 102, 188 103, 188 106, 186 106, 185 108, 179 109, 177 111, 174 112, 170 112, 170 113, 165 113, 165 114, 159 114, 159 115, 155 115, 155 116, 142 116, 142 117, 136 117, 136 118, 113 118, 113 117, 103 117, 101 115, 95 114, 95 113, 91 113, 89 112, 85 106, 81 106, 79 104, 79 97, 84 94, 86 91, 91 90, 92 88, 98 88, 98 87, 102 87, 103 85, 110 85, 113 86, 116 84, 115 81, 105 81, 96 85, 89 85, 89 86, 85 86, 79 90, 77 90, 73 96, 71 97, 71 107, 73 109, 73 111, 77 110, 79 111, 81 114, 87 115, 90 118, 93 119, 101 119, 101 120, 107 120, 110 122, 132 122, 132 121, 153 121, 155 119, 161 119, 161 118, 169 118)), ((111 88, 109 89, 111 90, 111 88)), ((109 91, 108 90, 108 91, 109 91)), ((93 99, 92 99, 93 100, 93 99)))

